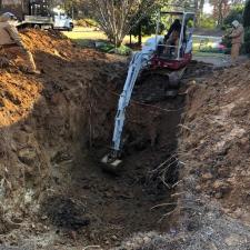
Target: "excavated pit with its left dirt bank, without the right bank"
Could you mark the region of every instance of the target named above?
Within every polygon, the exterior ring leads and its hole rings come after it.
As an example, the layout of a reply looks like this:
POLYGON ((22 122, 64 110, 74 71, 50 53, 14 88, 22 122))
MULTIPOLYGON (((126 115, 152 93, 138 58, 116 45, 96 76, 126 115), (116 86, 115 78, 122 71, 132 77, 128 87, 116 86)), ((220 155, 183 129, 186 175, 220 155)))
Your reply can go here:
MULTIPOLYGON (((112 176, 99 161, 111 142, 126 60, 82 50, 54 32, 26 31, 23 40, 42 74, 1 69, 0 241, 110 249, 137 232, 168 231, 178 219, 164 214, 177 206, 186 87, 153 103, 132 98, 122 171, 112 176)), ((184 82, 203 71, 211 68, 192 64, 184 82)), ((149 83, 150 96, 160 82, 149 83)))

